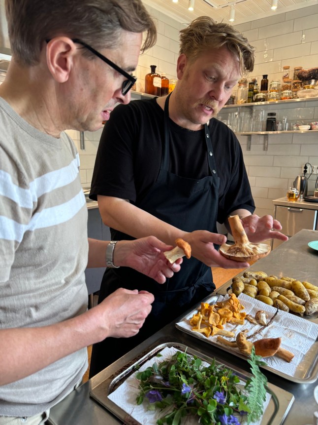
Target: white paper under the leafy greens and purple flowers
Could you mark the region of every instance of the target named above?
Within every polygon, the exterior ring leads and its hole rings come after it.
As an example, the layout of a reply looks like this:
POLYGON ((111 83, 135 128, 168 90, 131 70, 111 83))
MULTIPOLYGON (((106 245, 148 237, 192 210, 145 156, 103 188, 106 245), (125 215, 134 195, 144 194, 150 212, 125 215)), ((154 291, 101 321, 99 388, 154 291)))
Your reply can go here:
MULTIPOLYGON (((147 369, 147 367, 152 366, 155 362, 159 363, 163 360, 170 358, 173 354, 178 351, 177 348, 174 347, 165 347, 160 351, 160 357, 153 357, 152 359, 145 362, 139 369, 143 371, 147 369)), ((180 351, 180 350, 179 350, 180 351)), ((136 405, 136 398, 139 394, 138 389, 138 381, 135 378, 135 374, 130 375, 127 380, 115 391, 108 395, 108 398, 112 400, 117 406, 122 408, 128 415, 130 415, 133 419, 138 421, 142 425, 156 425, 158 419, 163 416, 163 413, 159 410, 150 411, 146 408, 146 403, 143 403, 139 406, 136 405)), ((266 400, 263 404, 263 411, 265 411, 266 406, 270 401, 271 395, 266 393, 266 400)), ((186 425, 197 425, 198 421, 191 418, 184 418, 182 424, 186 425)), ((242 424, 245 424, 243 422, 242 424)), ((259 425, 261 424, 261 420, 256 423, 251 423, 251 425, 259 425)))

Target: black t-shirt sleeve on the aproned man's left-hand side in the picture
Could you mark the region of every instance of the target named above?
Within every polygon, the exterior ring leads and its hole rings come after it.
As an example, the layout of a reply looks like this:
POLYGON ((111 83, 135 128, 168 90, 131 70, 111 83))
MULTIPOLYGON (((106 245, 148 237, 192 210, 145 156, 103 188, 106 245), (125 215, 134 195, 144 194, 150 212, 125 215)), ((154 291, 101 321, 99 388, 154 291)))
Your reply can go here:
POLYGON ((91 199, 97 195, 134 201, 133 139, 138 117, 130 105, 118 105, 106 122, 97 149, 91 199))

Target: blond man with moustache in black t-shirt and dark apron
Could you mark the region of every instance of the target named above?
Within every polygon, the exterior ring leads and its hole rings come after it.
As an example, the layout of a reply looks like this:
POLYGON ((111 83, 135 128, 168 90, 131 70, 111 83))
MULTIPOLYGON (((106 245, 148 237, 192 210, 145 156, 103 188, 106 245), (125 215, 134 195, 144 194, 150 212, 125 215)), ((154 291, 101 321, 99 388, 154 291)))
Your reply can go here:
POLYGON ((172 93, 112 113, 90 197, 98 200, 112 237, 154 234, 170 244, 181 237, 191 244, 191 259, 160 286, 133 270, 106 270, 99 301, 137 281, 139 289, 153 288, 155 302, 141 332, 127 343, 106 339, 93 347, 91 376, 208 296, 215 289, 211 266, 249 266, 219 253, 226 237, 217 233, 217 222, 228 225, 228 216, 238 214, 251 241, 287 239, 271 216, 253 214, 239 142, 215 118, 241 75, 253 71, 254 48, 230 25, 205 16, 183 29, 180 40, 172 93), (106 352, 109 344, 113 349, 106 352))

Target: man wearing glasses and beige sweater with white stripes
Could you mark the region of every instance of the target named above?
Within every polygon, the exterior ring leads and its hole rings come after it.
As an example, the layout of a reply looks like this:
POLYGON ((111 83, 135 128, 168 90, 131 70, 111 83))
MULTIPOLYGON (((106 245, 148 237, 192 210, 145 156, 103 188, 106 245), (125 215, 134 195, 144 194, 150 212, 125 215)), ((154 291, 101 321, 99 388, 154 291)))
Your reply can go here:
POLYGON ((85 268, 128 266, 164 283, 180 262, 170 266, 162 251, 172 246, 152 236, 88 241, 79 155, 64 133, 94 131, 116 103, 129 102, 142 35, 142 50, 156 40, 142 2, 6 0, 6 15, 12 61, 0 86, 0 424, 38 425, 81 382, 86 347, 135 335, 151 310, 152 294, 123 288, 87 310, 85 268))

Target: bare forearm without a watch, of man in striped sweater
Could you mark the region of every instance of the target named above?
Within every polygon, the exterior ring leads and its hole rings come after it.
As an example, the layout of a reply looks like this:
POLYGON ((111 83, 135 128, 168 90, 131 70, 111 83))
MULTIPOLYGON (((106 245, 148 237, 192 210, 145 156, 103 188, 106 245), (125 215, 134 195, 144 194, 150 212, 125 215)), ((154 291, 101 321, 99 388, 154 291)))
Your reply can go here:
POLYGON ((0 385, 17 381, 103 338, 92 310, 50 326, 0 330, 0 385))

